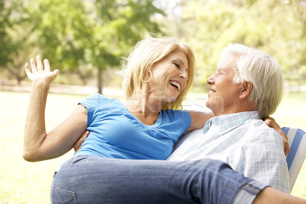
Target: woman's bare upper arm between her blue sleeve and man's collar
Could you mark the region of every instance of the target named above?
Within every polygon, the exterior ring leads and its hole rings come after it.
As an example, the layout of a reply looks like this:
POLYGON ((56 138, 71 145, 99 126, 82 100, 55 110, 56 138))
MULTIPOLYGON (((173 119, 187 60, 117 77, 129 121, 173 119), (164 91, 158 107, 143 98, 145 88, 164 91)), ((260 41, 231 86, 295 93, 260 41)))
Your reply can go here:
POLYGON ((214 117, 214 113, 200 112, 200 111, 188 111, 191 117, 191 125, 186 133, 203 128, 205 123, 214 117))

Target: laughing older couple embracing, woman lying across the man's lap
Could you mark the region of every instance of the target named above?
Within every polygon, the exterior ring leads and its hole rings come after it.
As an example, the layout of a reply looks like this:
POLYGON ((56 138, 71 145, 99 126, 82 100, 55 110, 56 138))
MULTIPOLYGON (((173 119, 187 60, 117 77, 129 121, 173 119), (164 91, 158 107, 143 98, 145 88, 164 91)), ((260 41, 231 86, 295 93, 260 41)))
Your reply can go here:
POLYGON ((195 71, 191 48, 147 37, 121 70, 124 103, 94 94, 49 133, 45 104, 59 70, 36 61, 31 70, 25 64, 32 92, 23 158, 78 149, 54 175, 52 203, 306 203, 287 194, 286 135, 262 120, 279 105, 284 79, 260 50, 225 47, 207 80, 213 113, 185 111, 195 71))

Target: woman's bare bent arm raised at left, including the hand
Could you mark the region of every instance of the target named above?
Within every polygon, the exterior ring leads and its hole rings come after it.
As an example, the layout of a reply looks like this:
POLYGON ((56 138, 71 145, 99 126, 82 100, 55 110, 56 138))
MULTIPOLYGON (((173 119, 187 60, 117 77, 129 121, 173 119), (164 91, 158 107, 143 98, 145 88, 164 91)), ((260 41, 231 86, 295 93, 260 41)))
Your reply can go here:
POLYGON ((50 71, 50 65, 44 60, 44 69, 40 56, 30 60, 25 72, 32 81, 29 108, 25 120, 23 158, 35 162, 53 159, 69 151, 87 127, 87 110, 79 105, 72 114, 50 133, 45 130, 45 105, 50 83, 55 80, 59 70, 50 71))

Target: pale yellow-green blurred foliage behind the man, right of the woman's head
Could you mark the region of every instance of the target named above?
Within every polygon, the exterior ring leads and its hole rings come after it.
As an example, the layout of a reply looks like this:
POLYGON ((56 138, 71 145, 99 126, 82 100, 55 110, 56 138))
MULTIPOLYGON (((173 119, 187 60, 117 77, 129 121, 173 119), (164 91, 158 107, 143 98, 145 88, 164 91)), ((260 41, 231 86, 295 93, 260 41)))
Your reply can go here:
POLYGON ((258 47, 278 60, 287 80, 305 80, 305 1, 190 0, 176 7, 182 12, 172 20, 172 35, 193 48, 196 82, 205 83, 215 71, 219 51, 228 43, 258 47))

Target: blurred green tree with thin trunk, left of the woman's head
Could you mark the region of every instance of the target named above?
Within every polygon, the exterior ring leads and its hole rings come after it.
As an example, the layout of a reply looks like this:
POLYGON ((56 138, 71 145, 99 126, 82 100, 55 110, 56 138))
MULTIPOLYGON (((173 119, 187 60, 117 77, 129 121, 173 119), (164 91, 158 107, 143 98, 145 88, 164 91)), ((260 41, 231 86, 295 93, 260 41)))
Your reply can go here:
POLYGON ((152 21, 155 13, 162 13, 152 1, 96 1, 87 2, 90 29, 90 46, 86 62, 98 69, 99 92, 101 76, 108 66, 119 66, 118 56, 126 56, 131 46, 148 32, 159 32, 158 24, 152 21))

